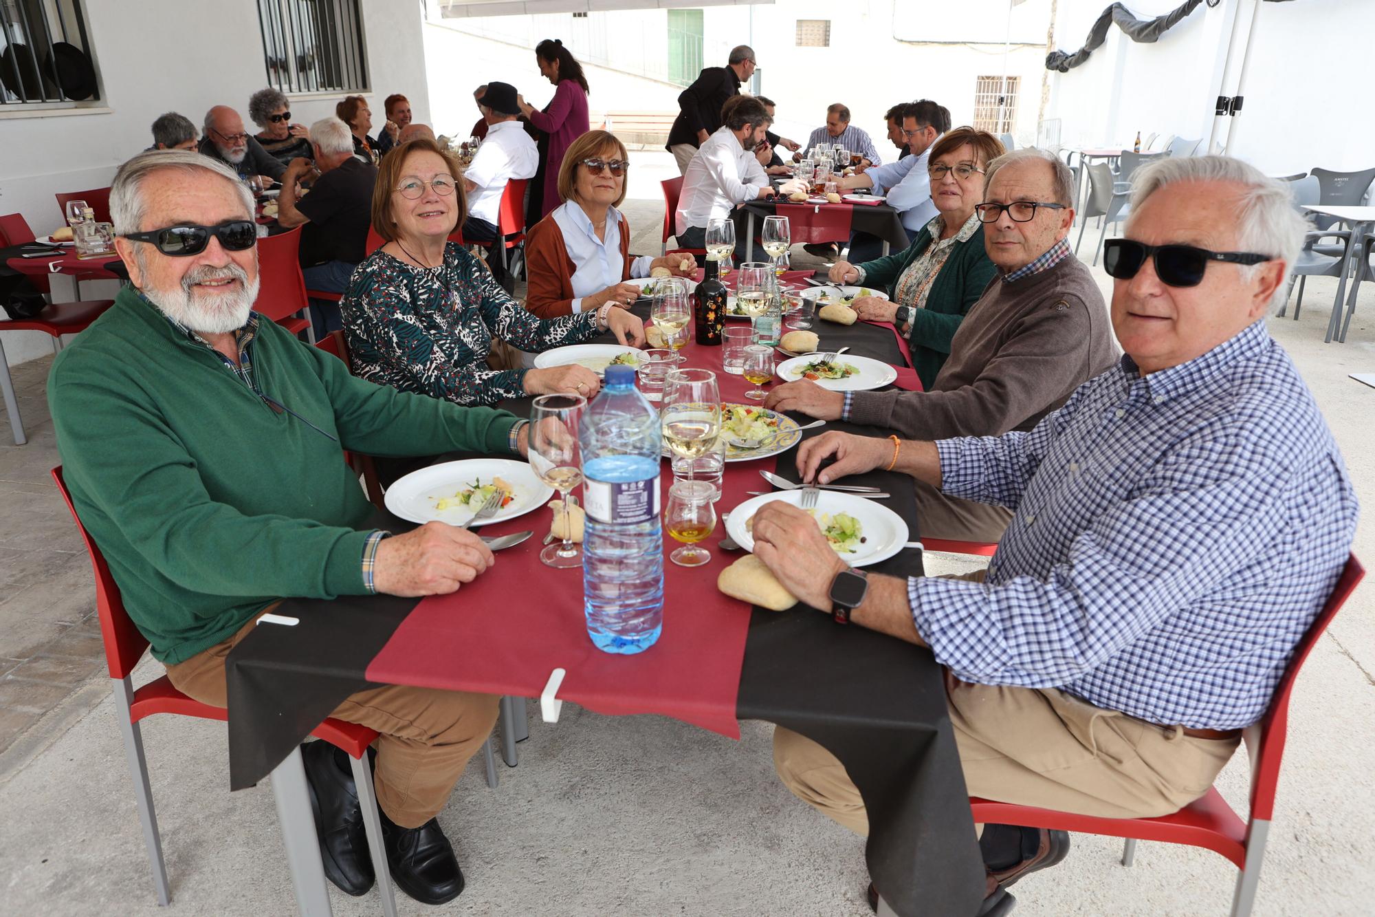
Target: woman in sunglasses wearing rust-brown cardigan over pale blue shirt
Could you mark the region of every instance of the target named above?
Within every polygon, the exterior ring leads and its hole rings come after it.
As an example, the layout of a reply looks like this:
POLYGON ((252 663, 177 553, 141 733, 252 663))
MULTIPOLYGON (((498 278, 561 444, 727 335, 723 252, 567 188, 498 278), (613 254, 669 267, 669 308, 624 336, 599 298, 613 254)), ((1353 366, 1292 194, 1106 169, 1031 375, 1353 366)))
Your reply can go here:
MULTIPOLYGON (((558 169, 564 204, 535 224, 525 240, 529 289, 525 308, 540 318, 630 308, 639 288, 627 280, 656 268, 690 277, 692 255, 630 255, 630 223, 616 209, 626 200, 626 146, 606 131, 590 131, 568 147, 558 169)), ((663 273, 663 271, 660 271, 663 273)))

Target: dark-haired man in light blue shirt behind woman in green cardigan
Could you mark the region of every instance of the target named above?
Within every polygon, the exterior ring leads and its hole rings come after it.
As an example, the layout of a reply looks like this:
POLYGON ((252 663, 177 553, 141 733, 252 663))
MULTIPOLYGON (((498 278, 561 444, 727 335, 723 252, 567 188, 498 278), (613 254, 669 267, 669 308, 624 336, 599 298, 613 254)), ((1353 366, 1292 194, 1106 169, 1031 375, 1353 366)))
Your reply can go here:
MULTIPOLYGON (((886 194, 888 207, 902 215, 902 229, 910 242, 921 227, 936 215, 931 200, 931 178, 927 175, 927 157, 936 140, 950 129, 950 112, 931 99, 918 99, 902 112, 902 134, 908 142, 909 156, 896 162, 868 168, 862 175, 840 179, 843 191, 868 187, 874 194, 886 194)), ((869 233, 855 233, 850 237, 851 264, 883 256, 883 240, 869 233)))

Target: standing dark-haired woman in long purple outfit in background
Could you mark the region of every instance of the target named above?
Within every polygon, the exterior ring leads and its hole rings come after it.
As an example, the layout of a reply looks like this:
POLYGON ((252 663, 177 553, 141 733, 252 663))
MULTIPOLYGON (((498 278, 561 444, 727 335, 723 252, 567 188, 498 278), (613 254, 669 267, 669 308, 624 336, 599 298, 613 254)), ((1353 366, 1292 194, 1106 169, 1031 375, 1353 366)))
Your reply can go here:
POLYGON ((558 39, 540 41, 535 45, 535 63, 557 88, 543 112, 536 112, 535 106, 527 105, 524 96, 517 96, 521 114, 544 135, 539 143, 539 172, 531 185, 527 211, 531 226, 562 204, 558 198, 558 167, 573 140, 591 127, 587 123, 587 77, 564 43, 558 39))

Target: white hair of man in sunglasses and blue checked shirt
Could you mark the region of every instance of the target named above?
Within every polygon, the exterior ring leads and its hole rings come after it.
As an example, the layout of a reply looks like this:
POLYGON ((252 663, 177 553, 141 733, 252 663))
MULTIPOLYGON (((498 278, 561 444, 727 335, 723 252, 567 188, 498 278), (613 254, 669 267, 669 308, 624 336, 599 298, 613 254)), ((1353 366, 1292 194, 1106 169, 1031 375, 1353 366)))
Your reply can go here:
MULTIPOLYGON (((1128 229, 1148 197, 1177 182, 1225 182, 1242 186, 1236 207, 1236 244, 1242 251, 1284 262, 1284 275, 1275 288, 1270 308, 1284 304, 1294 259, 1304 246, 1305 233, 1312 229, 1294 208, 1294 196, 1287 183, 1268 178, 1250 162, 1229 156, 1172 156, 1143 165, 1133 175, 1128 229)), ((1244 264, 1242 277, 1251 280, 1260 268, 1261 264, 1244 264)))

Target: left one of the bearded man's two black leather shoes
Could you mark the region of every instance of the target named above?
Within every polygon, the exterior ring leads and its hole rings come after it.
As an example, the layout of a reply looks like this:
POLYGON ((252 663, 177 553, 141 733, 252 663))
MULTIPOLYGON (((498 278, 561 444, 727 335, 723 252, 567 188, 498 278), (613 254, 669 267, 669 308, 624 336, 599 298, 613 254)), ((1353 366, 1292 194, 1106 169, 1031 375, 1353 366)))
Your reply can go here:
POLYGON ((301 746, 301 760, 324 874, 346 894, 366 895, 375 876, 348 756, 329 742, 307 742, 301 746))

